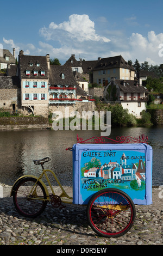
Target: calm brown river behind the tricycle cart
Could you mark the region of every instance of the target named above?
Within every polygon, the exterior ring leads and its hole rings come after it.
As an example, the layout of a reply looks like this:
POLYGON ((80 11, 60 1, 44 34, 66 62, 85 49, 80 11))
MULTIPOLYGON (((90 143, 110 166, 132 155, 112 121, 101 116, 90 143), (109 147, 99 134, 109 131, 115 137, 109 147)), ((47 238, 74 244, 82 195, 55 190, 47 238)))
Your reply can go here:
MULTIPOLYGON (((12 185, 21 175, 39 175, 41 167, 35 166, 33 160, 49 156, 51 161, 45 168, 55 170, 62 185, 72 186, 72 152, 66 148, 76 143, 77 134, 84 139, 101 136, 100 131, 0 131, 0 182, 12 185)), ((148 144, 153 148, 153 185, 163 185, 163 127, 111 128, 109 137, 141 134, 148 136, 148 144)))

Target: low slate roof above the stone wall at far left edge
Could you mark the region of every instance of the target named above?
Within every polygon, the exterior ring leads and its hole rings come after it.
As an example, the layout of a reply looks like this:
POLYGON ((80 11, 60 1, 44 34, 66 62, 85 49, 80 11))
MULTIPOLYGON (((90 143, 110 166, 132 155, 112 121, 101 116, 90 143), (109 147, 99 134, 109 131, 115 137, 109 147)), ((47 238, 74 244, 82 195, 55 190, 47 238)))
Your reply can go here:
POLYGON ((21 88, 18 76, 0 76, 0 88, 21 88))

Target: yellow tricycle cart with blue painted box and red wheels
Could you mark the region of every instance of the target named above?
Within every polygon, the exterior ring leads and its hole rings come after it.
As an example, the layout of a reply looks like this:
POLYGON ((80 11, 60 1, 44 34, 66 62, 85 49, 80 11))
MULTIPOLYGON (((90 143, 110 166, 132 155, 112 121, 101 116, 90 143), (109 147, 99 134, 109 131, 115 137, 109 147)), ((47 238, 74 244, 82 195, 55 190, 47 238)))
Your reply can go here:
POLYGON ((86 205, 87 221, 98 235, 126 234, 135 220, 135 204, 152 203, 152 148, 147 137, 117 137, 116 141, 93 137, 83 141, 77 136, 77 143, 66 150, 73 155, 73 197, 68 196, 52 170, 43 168, 50 160, 45 157, 34 160, 42 167, 39 178, 24 175, 12 186, 16 210, 23 216, 36 217, 48 202, 54 208, 65 207, 66 203, 86 205), (47 172, 58 182, 62 191, 59 196, 47 172), (48 187, 42 181, 43 176, 48 187))

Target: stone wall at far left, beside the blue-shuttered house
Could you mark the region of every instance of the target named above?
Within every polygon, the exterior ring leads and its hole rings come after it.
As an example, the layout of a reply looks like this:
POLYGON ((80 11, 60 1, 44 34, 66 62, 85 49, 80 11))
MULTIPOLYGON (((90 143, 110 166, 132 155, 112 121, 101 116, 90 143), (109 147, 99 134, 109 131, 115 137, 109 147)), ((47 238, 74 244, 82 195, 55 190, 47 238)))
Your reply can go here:
POLYGON ((15 109, 21 106, 21 89, 17 88, 1 88, 0 91, 0 108, 5 111, 12 111, 12 105, 15 104, 15 109))

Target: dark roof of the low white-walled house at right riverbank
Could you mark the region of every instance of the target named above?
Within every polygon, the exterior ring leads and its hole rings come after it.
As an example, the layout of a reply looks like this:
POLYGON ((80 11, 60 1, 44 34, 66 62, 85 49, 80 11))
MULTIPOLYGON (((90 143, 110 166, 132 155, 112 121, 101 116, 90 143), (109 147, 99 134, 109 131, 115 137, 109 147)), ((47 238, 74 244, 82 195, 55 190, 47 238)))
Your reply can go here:
POLYGON ((117 84, 124 93, 148 93, 148 90, 143 86, 136 86, 135 80, 126 80, 126 86, 123 86, 124 80, 116 79, 111 83, 117 84))

